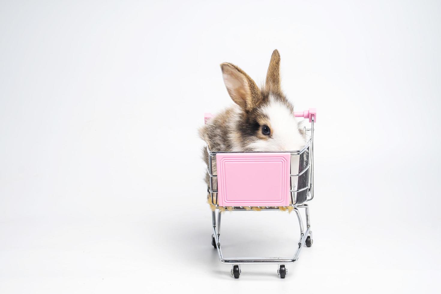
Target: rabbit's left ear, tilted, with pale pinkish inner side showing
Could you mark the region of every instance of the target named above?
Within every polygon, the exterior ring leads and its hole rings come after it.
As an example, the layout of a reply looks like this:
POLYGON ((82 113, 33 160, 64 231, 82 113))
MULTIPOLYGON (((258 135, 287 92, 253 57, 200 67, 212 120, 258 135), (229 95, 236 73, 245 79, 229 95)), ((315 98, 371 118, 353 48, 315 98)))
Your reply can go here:
POLYGON ((222 63, 222 76, 228 94, 235 104, 246 111, 256 107, 262 99, 256 83, 239 67, 231 63, 222 63))

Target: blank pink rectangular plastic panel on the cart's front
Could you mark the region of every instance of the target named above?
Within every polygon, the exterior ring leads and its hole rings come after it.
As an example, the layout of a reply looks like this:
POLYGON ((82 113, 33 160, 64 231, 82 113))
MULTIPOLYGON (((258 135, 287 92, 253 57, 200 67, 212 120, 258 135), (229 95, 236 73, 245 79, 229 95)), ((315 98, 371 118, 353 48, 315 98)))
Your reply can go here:
POLYGON ((288 206, 290 153, 217 153, 220 206, 288 206))

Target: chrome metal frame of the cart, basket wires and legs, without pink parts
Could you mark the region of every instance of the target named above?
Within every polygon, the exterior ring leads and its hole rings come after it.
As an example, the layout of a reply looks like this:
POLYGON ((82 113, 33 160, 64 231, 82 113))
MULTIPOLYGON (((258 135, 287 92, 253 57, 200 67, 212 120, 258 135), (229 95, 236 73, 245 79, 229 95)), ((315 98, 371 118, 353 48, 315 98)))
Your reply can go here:
MULTIPOLYGON (((211 197, 211 203, 216 207, 212 212, 212 222, 213 222, 213 236, 216 242, 217 253, 219 255, 219 260, 223 264, 232 264, 232 267, 236 264, 292 264, 299 259, 300 252, 302 251, 303 245, 306 243, 306 238, 310 236, 312 242, 312 231, 310 230, 310 215, 309 206, 305 203, 311 201, 314 198, 314 116, 312 117, 311 128, 304 129, 305 134, 309 134, 309 140, 306 142, 305 147, 299 151, 286 151, 291 154, 291 160, 294 156, 299 157, 299 171, 293 171, 290 173, 290 178, 297 178, 297 188, 293 189, 292 180, 290 181, 290 194, 291 194, 291 205, 292 211, 295 212, 300 226, 300 238, 297 243, 296 251, 294 256, 289 257, 224 257, 222 254, 221 246, 221 216, 222 211, 219 209, 217 204, 217 175, 216 168, 213 165, 216 163, 217 153, 230 153, 230 152, 213 152, 210 151, 207 146, 208 153, 208 167, 207 171, 209 174, 209 185, 207 191, 211 197), (308 133, 309 132, 309 133, 308 133), (213 161, 214 160, 214 161, 213 161), (305 209, 306 227, 303 226, 303 220, 300 215, 299 209, 305 209), (217 219, 217 221, 216 221, 217 219)), ((257 153, 265 153, 266 151, 259 151, 257 153)), ((237 152, 235 152, 237 153, 237 152)), ((264 208, 261 211, 274 211, 279 210, 279 207, 261 207, 264 208)), ((284 207, 286 208, 286 207, 284 207)), ((254 211, 250 208, 244 207, 229 207, 229 211, 254 211)))

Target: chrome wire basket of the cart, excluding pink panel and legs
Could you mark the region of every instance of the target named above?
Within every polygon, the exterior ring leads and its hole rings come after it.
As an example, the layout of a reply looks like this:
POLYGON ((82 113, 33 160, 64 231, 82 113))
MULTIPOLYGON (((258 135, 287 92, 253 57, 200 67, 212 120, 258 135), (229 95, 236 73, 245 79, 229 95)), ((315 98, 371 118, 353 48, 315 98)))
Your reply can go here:
MULTIPOLYGON (((311 122, 310 129, 304 129, 305 132, 310 133, 310 138, 306 142, 306 145, 302 150, 299 151, 284 151, 289 152, 291 155, 291 160, 293 156, 299 156, 299 169, 298 173, 292 174, 290 172, 290 197, 291 205, 295 207, 296 205, 303 204, 304 202, 311 201, 314 198, 314 118, 311 122), (305 175, 306 174, 306 175, 305 175), (297 178, 297 189, 292 189, 292 179, 297 178)), ((219 207, 217 204, 217 175, 213 172, 213 160, 216 162, 217 153, 270 153, 271 151, 253 151, 253 152, 234 152, 234 151, 211 151, 207 145, 208 153, 208 167, 207 173, 209 175, 209 185, 207 186, 207 192, 211 198, 211 204, 216 208, 219 207), (216 179, 216 186, 214 185, 214 179, 216 179)), ((290 164, 291 166, 291 164, 290 164)), ((242 207, 232 207, 232 210, 240 210, 242 207)), ((270 207, 264 207, 269 209, 270 207)), ((278 209, 278 208, 277 208, 278 209)))

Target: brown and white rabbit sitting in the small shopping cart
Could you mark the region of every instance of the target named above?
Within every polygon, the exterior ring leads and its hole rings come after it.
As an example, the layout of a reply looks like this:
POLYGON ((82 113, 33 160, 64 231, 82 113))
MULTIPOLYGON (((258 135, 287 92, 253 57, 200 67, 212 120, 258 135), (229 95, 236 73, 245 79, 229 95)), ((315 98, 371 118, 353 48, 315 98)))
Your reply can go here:
MULTIPOLYGON (((305 133, 294 117, 293 105, 280 89, 280 55, 277 50, 271 56, 265 86, 261 89, 234 64, 222 63, 221 69, 228 94, 235 105, 209 119, 199 130, 200 137, 210 150, 292 151, 303 148, 305 133)), ((208 164, 205 147, 203 153, 203 159, 208 164)), ((215 161, 213 172, 216 174, 215 161)), ((208 173, 206 182, 209 183, 208 173)), ((216 181, 213 184, 216 188, 216 181)), ((208 203, 214 210, 210 195, 208 203)), ((220 209, 223 211, 225 208, 220 209)), ((291 211, 292 207, 280 209, 291 211)))

